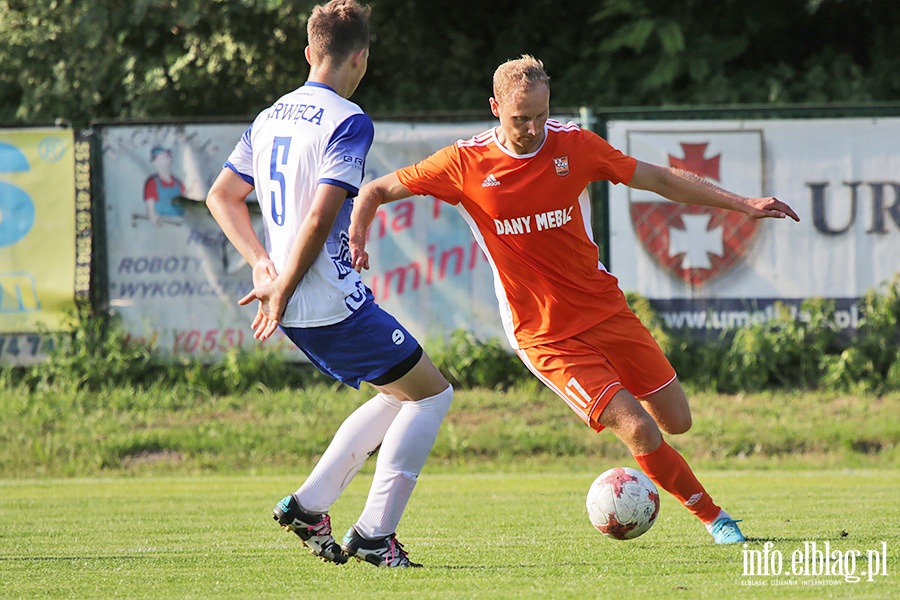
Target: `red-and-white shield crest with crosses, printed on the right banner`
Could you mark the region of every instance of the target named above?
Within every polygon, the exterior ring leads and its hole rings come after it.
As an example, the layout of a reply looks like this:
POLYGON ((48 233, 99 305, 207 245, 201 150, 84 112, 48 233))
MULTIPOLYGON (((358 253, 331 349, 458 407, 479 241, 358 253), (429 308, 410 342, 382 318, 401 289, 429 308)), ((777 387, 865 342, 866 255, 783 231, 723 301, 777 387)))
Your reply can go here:
MULTIPOLYGON (((685 136, 689 142, 677 135, 646 134, 641 142, 665 149, 665 161, 648 157, 650 162, 691 171, 742 194, 762 194, 759 135, 726 132, 704 134, 705 138, 685 136), (673 144, 676 139, 677 144, 673 144)), ((635 233, 653 260, 692 287, 706 285, 739 264, 758 230, 755 219, 739 212, 663 201, 641 193, 632 195, 630 213, 635 233)))

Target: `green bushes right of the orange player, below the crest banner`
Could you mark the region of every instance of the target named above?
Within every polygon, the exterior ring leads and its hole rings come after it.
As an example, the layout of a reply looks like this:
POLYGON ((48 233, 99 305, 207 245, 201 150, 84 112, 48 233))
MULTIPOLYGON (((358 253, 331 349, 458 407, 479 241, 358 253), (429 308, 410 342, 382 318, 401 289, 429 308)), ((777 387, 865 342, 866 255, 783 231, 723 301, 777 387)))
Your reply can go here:
POLYGON ((833 314, 833 303, 822 299, 804 301, 802 318, 777 305, 775 320, 730 337, 696 342, 667 332, 668 354, 683 380, 717 392, 900 390, 900 278, 866 295, 851 339, 841 339, 833 314))

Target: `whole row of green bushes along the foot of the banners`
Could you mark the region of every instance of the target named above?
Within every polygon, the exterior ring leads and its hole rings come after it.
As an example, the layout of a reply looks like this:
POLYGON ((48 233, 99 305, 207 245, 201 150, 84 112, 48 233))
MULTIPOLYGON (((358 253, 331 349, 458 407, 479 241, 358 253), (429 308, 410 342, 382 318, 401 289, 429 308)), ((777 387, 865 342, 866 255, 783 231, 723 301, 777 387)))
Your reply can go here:
MULTIPOLYGON (((700 389, 874 394, 900 390, 900 277, 865 296, 859 330, 849 340, 838 334, 833 304, 821 299, 801 305, 803 318, 778 306, 771 322, 706 341, 667 330, 647 299, 629 294, 628 302, 682 381, 700 389)), ((166 362, 129 341, 115 318, 86 309, 73 315, 69 332, 53 335, 54 350, 41 365, 0 371, 0 390, 96 392, 130 385, 175 388, 181 396, 196 397, 322 382, 340 385, 309 365, 263 347, 233 350, 209 364, 196 359, 166 362)), ((483 341, 458 330, 427 345, 434 363, 456 388, 502 391, 523 383, 538 385, 504 341, 483 341)))

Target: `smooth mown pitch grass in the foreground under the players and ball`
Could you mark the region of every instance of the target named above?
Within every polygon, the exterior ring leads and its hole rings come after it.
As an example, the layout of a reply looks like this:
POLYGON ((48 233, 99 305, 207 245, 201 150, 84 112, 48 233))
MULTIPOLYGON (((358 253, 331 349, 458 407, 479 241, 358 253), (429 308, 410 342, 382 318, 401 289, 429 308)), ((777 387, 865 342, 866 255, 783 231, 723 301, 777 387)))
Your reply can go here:
MULTIPOLYGON (((626 463, 630 464, 630 463, 626 463)), ((332 508, 340 535, 370 466, 332 508)), ((599 468, 599 467, 598 467, 599 468)), ((0 482, 3 598, 889 598, 900 597, 900 471, 703 471, 748 549, 887 544, 887 576, 743 576, 743 545, 716 546, 669 496, 644 536, 604 538, 584 512, 595 471, 469 473, 426 467, 398 532, 417 570, 325 564, 277 528, 297 476, 0 482), (795 586, 775 582, 796 581, 795 586), (765 586, 746 585, 753 581, 765 586), (803 585, 803 582, 836 585, 803 585), (743 583, 743 585, 742 585, 743 583)), ((864 560, 857 574, 865 570, 864 560)))

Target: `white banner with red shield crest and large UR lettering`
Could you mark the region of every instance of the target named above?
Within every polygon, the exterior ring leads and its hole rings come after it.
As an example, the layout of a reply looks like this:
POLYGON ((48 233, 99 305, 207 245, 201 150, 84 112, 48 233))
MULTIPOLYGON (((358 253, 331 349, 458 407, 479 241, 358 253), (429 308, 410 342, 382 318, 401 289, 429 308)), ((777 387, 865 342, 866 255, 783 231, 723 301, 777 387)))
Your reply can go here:
POLYGON ((801 219, 612 186, 611 271, 675 329, 729 330, 773 318, 775 302, 827 298, 852 330, 857 300, 900 273, 898 136, 898 118, 610 122, 610 143, 637 159, 775 196, 801 219))

